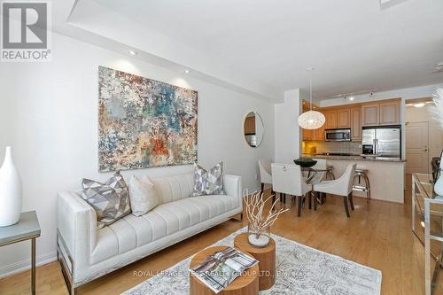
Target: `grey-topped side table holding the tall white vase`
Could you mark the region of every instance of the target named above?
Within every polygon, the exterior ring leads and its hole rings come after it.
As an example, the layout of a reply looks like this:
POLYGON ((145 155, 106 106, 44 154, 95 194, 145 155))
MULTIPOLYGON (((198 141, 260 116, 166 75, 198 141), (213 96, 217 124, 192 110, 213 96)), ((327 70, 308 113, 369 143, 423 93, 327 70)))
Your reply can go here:
POLYGON ((0 247, 31 240, 31 293, 33 295, 35 295, 35 238, 40 237, 40 233, 40 224, 35 211, 21 213, 19 222, 0 227, 0 247))

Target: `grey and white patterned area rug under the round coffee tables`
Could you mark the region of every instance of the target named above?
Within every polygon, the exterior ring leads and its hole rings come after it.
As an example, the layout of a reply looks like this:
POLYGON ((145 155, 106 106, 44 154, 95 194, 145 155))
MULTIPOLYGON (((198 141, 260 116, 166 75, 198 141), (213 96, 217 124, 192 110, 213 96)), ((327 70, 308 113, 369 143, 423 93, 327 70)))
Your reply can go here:
MULTIPOLYGON (((214 245, 234 245, 234 237, 246 228, 214 245)), ((276 241, 276 283, 260 294, 380 294, 382 273, 341 257, 272 235, 276 241)), ((214 246, 213 245, 213 246, 214 246)), ((189 294, 192 256, 124 292, 124 295, 189 294)))

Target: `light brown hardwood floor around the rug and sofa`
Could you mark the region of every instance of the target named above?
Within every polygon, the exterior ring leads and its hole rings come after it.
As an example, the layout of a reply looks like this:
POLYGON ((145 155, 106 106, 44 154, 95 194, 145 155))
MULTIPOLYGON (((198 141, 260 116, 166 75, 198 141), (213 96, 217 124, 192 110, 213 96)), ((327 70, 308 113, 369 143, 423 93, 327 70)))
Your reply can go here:
MULTIPOLYGON (((348 260, 382 271, 383 294, 424 294, 424 247, 411 232, 410 192, 405 192, 405 205, 372 199, 354 198, 355 211, 346 218, 342 198, 328 196, 317 211, 303 209, 297 217, 295 201, 287 204, 273 227, 273 233, 329 252, 348 260)), ((78 294, 120 294, 149 276, 135 276, 136 271, 155 275, 180 260, 212 245, 222 237, 247 225, 230 220, 205 232, 139 260, 125 268, 88 283, 78 294)), ((433 265, 432 265, 433 268, 433 265)), ((37 294, 67 294, 57 262, 37 268, 37 294)), ((30 272, 0 280, 0 294, 27 294, 30 272)), ((443 294, 443 279, 439 279, 434 294, 443 294)))

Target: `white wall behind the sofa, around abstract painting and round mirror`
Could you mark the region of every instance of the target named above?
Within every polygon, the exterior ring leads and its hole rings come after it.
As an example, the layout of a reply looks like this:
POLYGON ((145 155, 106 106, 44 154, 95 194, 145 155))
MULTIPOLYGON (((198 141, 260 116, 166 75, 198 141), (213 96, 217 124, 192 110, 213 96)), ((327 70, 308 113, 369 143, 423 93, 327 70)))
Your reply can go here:
MULTIPOLYGON (((42 227, 40 263, 56 255, 57 192, 79 190, 83 177, 100 181, 111 175, 98 173, 97 165, 99 65, 197 90, 198 162, 211 167, 222 160, 226 173, 242 176, 244 187, 258 188, 257 159, 274 154, 272 104, 55 34, 51 63, 0 65, 0 159, 4 146, 12 145, 23 183, 23 211, 36 210, 42 227), (243 138, 243 120, 250 111, 260 113, 265 125, 263 143, 255 149, 243 138)), ((122 174, 155 177, 191 169, 122 174)), ((28 243, 0 248, 0 276, 28 265, 28 243)))

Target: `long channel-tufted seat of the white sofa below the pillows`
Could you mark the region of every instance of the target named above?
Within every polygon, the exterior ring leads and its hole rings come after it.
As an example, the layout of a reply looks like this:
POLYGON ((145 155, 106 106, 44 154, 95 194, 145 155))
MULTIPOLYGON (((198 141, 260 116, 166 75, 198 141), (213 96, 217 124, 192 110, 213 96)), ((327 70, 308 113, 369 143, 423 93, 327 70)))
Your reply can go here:
POLYGON ((237 198, 227 195, 182 198, 156 206, 140 217, 128 215, 97 232, 97 245, 91 254, 95 264, 122 252, 172 235, 199 222, 207 221, 237 206, 237 198))

